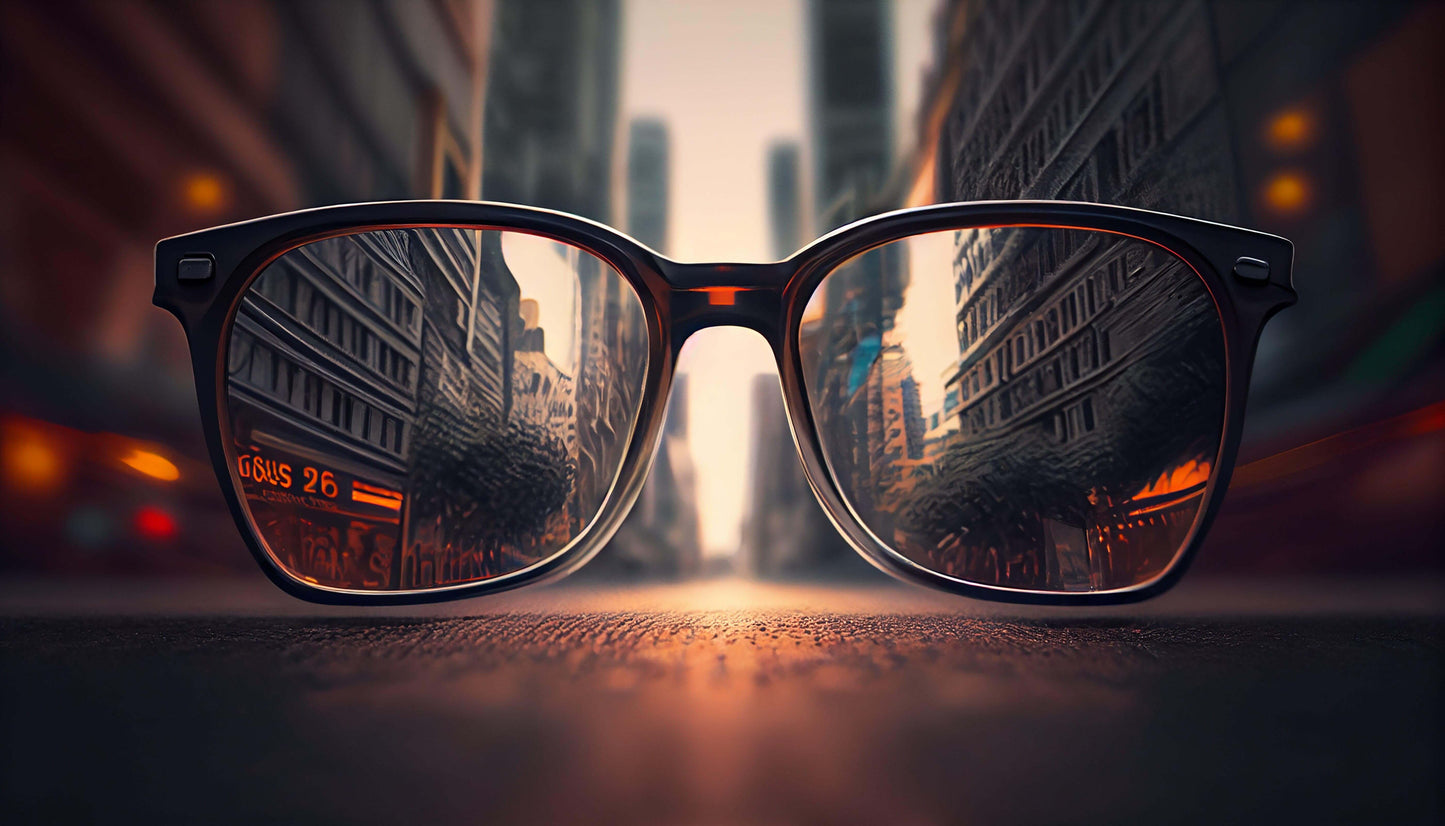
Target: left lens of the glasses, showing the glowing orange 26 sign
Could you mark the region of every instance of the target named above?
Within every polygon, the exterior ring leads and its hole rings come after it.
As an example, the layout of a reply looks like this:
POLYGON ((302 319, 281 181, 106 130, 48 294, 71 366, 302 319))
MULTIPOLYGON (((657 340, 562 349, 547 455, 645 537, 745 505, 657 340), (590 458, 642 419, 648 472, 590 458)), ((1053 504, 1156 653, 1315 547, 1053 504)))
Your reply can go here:
POLYGON ((501 576, 597 516, 646 371, 642 303, 575 247, 457 228, 315 241, 237 309, 236 478, 272 556, 306 582, 501 576))

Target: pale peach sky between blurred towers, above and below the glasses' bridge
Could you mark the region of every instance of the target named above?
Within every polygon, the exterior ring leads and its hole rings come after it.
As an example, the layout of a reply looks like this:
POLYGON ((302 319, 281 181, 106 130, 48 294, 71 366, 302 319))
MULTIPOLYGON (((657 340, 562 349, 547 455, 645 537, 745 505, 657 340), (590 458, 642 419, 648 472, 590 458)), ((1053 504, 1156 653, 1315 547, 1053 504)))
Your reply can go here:
MULTIPOLYGON (((896 140, 912 140, 936 7, 936 0, 894 1, 896 140)), ((669 257, 772 260, 769 146, 799 142, 808 168, 803 26, 802 0, 626 1, 621 134, 634 117, 668 124, 670 225, 662 251, 669 257)), ((707 555, 738 549, 751 452, 750 386, 753 375, 773 370, 766 344, 743 329, 704 331, 683 349, 679 371, 692 375, 688 433, 707 555)))

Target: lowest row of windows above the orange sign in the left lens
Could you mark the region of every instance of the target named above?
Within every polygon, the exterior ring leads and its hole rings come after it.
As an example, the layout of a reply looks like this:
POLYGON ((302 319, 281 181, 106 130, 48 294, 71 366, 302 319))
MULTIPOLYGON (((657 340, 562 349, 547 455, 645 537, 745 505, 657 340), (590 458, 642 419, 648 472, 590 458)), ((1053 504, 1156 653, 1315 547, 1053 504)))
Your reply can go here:
POLYGON ((230 380, 275 400, 299 417, 350 433, 403 458, 407 423, 273 351, 244 331, 231 336, 230 380))

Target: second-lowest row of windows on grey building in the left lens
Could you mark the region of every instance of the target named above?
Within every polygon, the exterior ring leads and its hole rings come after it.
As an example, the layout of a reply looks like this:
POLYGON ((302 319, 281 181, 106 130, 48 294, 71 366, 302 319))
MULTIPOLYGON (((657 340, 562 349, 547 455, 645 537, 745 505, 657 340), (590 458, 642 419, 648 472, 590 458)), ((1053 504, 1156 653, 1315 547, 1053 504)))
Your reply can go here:
POLYGON ((366 322, 315 289, 295 264, 270 267, 251 289, 392 384, 406 390, 416 387, 416 358, 397 351, 366 322))

